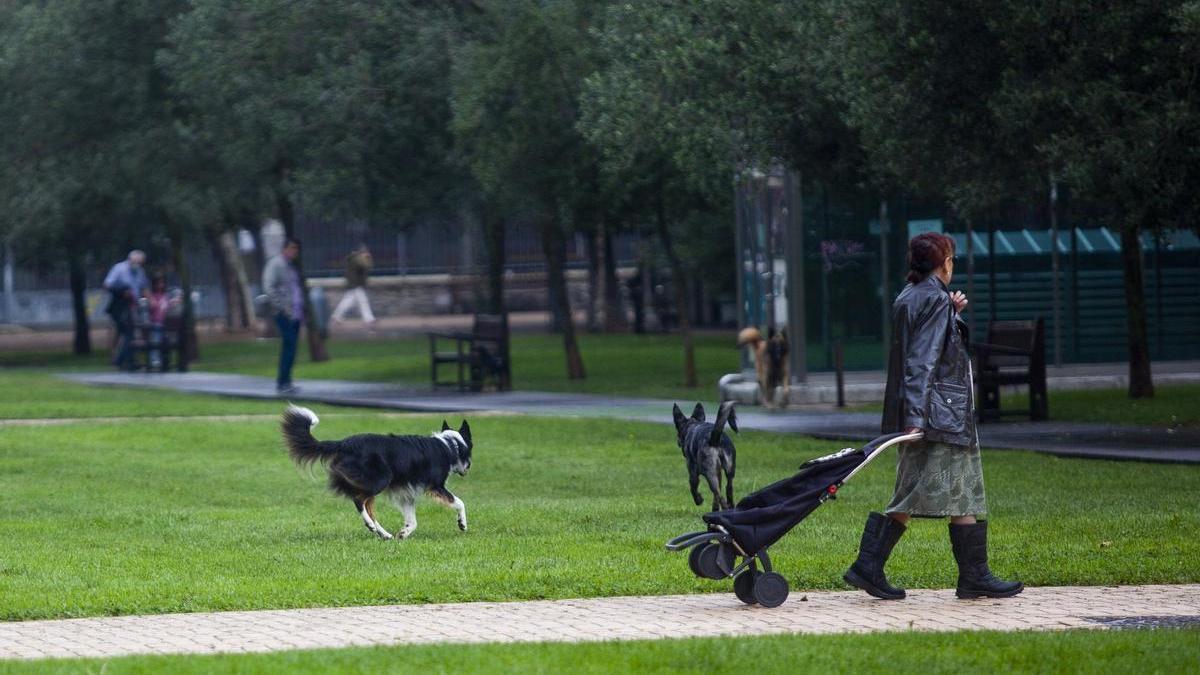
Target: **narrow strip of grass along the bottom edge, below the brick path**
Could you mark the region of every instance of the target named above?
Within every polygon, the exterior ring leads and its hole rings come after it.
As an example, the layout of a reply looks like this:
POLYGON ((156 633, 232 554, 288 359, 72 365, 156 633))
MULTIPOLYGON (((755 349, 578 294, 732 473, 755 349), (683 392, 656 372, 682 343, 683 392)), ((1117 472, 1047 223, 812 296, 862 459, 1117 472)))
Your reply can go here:
POLYGON ((0 673, 1196 673, 1200 631, 876 633, 0 662, 0 673))

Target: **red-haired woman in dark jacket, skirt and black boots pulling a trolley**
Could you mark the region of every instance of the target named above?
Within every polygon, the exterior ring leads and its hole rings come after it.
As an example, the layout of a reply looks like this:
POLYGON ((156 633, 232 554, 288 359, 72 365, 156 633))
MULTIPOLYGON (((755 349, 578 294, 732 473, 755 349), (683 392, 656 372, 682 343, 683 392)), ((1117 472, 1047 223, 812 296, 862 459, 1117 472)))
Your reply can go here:
POLYGON ((1024 584, 996 578, 988 567, 988 521, 967 325, 962 293, 950 292, 954 239, 940 233, 908 241, 908 285, 892 304, 892 345, 883 401, 884 434, 924 434, 900 447, 895 494, 871 513, 858 560, 844 579, 877 598, 900 599, 883 566, 911 516, 950 516, 950 548, 959 566, 960 598, 1007 598, 1024 584))

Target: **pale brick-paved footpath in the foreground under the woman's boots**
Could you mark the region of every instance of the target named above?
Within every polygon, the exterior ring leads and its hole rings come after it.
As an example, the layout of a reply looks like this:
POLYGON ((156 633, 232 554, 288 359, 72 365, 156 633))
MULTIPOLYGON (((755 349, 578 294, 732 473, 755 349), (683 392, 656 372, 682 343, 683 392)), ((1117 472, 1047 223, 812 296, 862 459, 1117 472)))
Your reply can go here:
POLYGON ((1200 623, 1200 585, 1037 587, 1003 601, 908 593, 887 602, 857 591, 793 592, 775 609, 712 593, 25 621, 0 623, 0 658, 1200 623))

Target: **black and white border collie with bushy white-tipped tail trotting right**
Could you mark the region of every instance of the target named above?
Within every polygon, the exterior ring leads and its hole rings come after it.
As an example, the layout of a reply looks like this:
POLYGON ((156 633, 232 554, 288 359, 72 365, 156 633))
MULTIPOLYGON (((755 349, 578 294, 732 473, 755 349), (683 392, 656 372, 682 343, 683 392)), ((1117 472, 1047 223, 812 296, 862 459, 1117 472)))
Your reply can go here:
POLYGON ((450 472, 466 476, 470 468, 470 425, 462 420, 457 431, 442 420, 432 436, 358 434, 341 441, 318 441, 312 428, 320 420, 308 408, 288 406, 280 429, 292 459, 300 466, 322 461, 329 468, 329 486, 354 502, 367 530, 382 539, 390 532, 379 525, 374 500, 386 492, 404 516, 400 538, 416 530, 416 496, 428 492, 458 512, 458 528, 467 531, 467 504, 446 490, 450 472))

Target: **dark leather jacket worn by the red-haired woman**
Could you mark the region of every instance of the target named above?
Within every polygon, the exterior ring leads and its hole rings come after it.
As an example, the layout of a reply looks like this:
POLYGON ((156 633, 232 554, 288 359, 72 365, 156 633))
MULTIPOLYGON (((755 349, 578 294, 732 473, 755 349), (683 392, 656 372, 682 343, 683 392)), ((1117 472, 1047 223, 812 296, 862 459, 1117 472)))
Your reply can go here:
POLYGON ((883 432, 917 426, 926 441, 974 446, 974 393, 967 325, 949 291, 931 274, 892 303, 892 347, 883 432))

